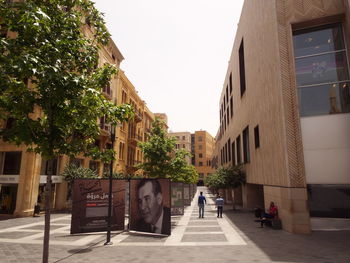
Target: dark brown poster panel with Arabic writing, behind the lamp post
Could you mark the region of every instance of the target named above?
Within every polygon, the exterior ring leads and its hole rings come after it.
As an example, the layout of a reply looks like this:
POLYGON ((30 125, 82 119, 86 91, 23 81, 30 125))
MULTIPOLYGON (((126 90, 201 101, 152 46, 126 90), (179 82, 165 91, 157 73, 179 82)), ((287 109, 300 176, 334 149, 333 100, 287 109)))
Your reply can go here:
MULTIPOLYGON (((111 230, 124 230, 125 186, 113 179, 111 230)), ((108 179, 74 180, 71 234, 107 231, 108 197, 108 179)))

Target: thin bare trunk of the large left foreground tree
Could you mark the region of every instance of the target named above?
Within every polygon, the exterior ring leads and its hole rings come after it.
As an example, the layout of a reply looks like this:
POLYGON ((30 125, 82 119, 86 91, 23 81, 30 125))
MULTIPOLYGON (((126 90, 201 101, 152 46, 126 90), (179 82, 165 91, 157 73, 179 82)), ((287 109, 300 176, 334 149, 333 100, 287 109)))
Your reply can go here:
POLYGON ((43 263, 49 261, 49 241, 50 241, 50 217, 51 217, 51 192, 52 192, 52 164, 53 159, 48 161, 47 179, 45 186, 45 230, 43 244, 43 263))

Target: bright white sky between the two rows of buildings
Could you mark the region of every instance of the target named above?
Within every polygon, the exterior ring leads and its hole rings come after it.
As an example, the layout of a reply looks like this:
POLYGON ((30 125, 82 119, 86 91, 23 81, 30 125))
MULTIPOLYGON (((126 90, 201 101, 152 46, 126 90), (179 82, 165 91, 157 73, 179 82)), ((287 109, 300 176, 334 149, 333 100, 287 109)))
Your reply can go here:
POLYGON ((219 99, 243 0, 95 0, 121 69, 173 132, 219 128, 219 99))

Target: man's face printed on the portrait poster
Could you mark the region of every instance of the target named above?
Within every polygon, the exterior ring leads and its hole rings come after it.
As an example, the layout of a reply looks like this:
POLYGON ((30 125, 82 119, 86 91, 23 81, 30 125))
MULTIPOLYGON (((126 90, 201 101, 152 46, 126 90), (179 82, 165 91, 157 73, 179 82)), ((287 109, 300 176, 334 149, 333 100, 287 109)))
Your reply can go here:
POLYGON ((148 224, 155 224, 162 213, 163 197, 154 194, 151 182, 145 183, 138 191, 139 212, 148 224))

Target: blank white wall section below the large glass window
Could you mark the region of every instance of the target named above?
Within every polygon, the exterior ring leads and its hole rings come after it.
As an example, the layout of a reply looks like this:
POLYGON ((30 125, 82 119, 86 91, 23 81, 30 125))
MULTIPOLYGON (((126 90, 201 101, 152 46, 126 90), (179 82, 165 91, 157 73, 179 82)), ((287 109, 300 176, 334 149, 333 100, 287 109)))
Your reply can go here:
POLYGON ((350 184, 350 113, 300 118, 308 184, 350 184))

